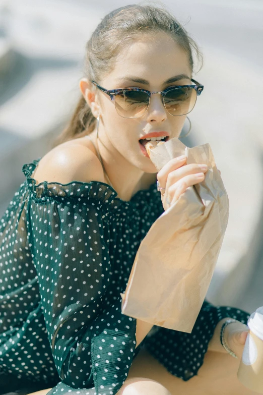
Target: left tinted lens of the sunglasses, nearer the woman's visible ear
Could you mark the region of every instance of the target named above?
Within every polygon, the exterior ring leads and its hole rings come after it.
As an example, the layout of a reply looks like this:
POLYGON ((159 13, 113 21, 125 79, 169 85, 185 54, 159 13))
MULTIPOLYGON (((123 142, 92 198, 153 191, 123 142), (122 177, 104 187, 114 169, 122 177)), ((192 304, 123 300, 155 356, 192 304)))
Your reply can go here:
POLYGON ((123 90, 115 95, 115 107, 124 118, 139 118, 148 108, 149 96, 146 92, 123 90))

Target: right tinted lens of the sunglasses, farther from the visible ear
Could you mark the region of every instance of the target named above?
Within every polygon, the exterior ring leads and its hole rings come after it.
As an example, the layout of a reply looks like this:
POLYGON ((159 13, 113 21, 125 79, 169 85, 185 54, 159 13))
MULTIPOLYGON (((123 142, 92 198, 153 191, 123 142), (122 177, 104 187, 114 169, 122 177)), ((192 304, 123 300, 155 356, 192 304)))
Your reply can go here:
POLYGON ((194 88, 175 88, 164 96, 164 105, 171 115, 185 115, 193 109, 196 97, 194 88))

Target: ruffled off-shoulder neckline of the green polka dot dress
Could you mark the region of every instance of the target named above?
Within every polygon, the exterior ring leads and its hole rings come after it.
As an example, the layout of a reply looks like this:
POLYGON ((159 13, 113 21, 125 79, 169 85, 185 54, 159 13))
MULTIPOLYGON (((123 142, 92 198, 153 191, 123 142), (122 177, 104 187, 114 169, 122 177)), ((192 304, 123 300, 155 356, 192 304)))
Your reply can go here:
MULTIPOLYGON (((61 184, 58 182, 47 182, 43 181, 39 184, 36 183, 34 178, 31 178, 38 162, 41 157, 33 160, 30 163, 25 163, 22 167, 22 172, 27 179, 27 187, 31 192, 31 196, 34 199, 44 200, 47 197, 60 197, 62 200, 64 198, 78 198, 89 197, 95 200, 99 200, 102 203, 114 203, 126 206, 139 206, 140 203, 146 203, 153 194, 157 195, 156 184, 153 183, 148 189, 137 191, 130 200, 126 201, 117 197, 117 192, 109 184, 99 182, 99 181, 71 181, 68 184, 61 184)), ((117 207, 115 207, 117 208, 117 207)))

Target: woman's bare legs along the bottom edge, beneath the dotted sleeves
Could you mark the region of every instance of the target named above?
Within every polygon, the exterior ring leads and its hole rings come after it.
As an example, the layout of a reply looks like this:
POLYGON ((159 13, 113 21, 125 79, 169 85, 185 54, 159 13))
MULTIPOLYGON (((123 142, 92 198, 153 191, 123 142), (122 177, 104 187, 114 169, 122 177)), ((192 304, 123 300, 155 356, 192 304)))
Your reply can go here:
MULTIPOLYGON (((130 366, 116 395, 257 395, 237 379, 239 359, 208 351, 198 375, 188 381, 173 376, 145 348, 130 366)), ((46 395, 49 389, 30 395, 46 395)))

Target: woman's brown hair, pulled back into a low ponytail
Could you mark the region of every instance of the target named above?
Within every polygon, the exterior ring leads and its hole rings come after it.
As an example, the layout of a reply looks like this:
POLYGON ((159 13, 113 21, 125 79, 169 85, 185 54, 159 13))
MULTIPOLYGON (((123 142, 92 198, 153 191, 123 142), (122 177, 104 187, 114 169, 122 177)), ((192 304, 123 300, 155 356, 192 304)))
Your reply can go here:
MULTIPOLYGON (((131 41, 145 34, 153 36, 160 32, 167 33, 186 51, 191 71, 193 54, 201 61, 202 67, 203 55, 198 45, 164 6, 129 5, 107 14, 92 33, 86 43, 84 78, 99 84, 114 69, 118 53, 131 41)), ((95 123, 91 108, 81 95, 69 124, 56 138, 54 146, 91 133, 95 123)))

